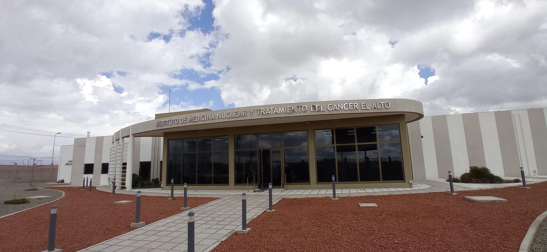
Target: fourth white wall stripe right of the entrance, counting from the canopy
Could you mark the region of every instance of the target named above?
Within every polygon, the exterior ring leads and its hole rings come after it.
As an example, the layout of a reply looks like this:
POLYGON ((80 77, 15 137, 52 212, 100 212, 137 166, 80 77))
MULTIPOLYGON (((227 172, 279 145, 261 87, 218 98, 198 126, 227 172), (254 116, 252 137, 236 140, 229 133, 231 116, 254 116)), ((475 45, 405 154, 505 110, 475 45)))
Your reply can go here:
POLYGON ((536 163, 536 153, 534 152, 534 142, 532 139, 532 129, 528 118, 528 110, 513 110, 515 113, 515 124, 517 136, 519 138, 520 157, 524 173, 526 175, 537 175, 538 165, 536 163), (520 120, 519 120, 520 114, 520 120), (522 122, 522 128, 520 127, 522 122), (536 171, 534 173, 533 171, 536 171))

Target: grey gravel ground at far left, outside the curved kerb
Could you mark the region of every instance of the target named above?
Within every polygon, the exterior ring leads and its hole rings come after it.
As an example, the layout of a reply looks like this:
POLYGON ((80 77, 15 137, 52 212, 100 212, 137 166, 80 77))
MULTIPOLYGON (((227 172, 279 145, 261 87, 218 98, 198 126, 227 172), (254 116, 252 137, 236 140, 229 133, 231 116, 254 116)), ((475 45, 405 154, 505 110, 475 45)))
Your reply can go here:
MULTIPOLYGON (((34 188, 51 186, 51 184, 45 184, 43 182, 35 182, 33 183, 33 185, 34 188)), ((16 211, 31 208, 45 202, 50 202, 62 196, 61 192, 51 190, 25 191, 25 189, 32 188, 30 183, 0 184, 0 188, 2 188, 0 190, 0 216, 15 213, 16 211), (38 195, 48 195, 51 197, 45 199, 29 199, 30 203, 19 205, 4 204, 4 201, 8 201, 9 199, 13 199, 14 197, 25 198, 28 196, 38 195)))

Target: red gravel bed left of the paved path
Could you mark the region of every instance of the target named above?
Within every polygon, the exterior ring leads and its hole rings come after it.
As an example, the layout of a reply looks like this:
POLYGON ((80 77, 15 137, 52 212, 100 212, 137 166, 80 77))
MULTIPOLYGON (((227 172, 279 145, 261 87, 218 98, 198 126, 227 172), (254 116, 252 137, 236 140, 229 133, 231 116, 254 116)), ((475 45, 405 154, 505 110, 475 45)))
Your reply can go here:
MULTIPOLYGON (((59 201, 26 210, 0 219, 0 251, 42 251, 48 248, 49 214, 57 205, 55 247, 71 252, 127 233, 135 222, 135 203, 114 205, 115 201, 135 201, 135 195, 97 191, 81 191, 75 187, 49 187, 64 191, 59 201)), ((188 198, 190 207, 197 207, 216 198, 188 198)), ((142 196, 141 221, 154 221, 181 213, 182 198, 142 196)))

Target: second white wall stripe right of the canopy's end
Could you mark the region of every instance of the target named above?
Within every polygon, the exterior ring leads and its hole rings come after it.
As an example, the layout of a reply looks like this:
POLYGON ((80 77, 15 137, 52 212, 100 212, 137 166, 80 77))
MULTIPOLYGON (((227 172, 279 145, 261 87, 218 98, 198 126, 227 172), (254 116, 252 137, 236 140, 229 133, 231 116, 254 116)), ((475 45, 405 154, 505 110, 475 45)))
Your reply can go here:
POLYGON ((459 176, 469 169, 469 156, 467 154, 462 114, 450 114, 446 116, 446 121, 448 123, 452 163, 454 165, 452 175, 459 176))

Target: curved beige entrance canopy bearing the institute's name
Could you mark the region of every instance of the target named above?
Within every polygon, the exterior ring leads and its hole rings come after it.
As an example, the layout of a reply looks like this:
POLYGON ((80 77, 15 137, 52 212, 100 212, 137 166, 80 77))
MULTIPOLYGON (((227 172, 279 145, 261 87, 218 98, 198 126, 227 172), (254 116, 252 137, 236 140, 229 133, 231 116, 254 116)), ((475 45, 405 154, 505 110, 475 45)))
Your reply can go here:
POLYGON ((113 140, 134 136, 163 136, 166 132, 220 129, 251 125, 321 121, 342 118, 376 117, 404 114, 406 123, 423 117, 420 101, 373 99, 298 102, 225 110, 200 110, 156 115, 161 118, 133 124, 114 134, 113 140))

